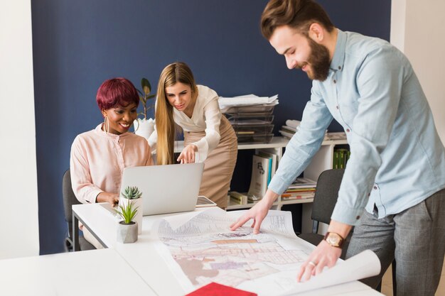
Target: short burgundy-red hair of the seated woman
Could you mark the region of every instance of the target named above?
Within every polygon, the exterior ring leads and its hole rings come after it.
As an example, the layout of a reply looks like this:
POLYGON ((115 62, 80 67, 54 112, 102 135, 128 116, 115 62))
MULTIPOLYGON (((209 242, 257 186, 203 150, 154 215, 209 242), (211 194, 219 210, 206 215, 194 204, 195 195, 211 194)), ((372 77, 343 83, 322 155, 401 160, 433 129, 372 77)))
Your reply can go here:
POLYGON ((132 103, 139 106, 139 94, 132 82, 126 78, 117 77, 105 80, 100 84, 97 89, 96 102, 101 111, 132 103))

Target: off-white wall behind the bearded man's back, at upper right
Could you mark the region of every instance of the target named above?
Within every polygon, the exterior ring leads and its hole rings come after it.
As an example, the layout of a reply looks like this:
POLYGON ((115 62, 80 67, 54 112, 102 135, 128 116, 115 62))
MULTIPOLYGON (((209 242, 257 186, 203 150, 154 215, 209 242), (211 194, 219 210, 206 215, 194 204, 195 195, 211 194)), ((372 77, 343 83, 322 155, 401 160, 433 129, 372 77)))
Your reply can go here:
POLYGON ((444 0, 392 0, 391 43, 411 61, 445 144, 444 13, 444 0))

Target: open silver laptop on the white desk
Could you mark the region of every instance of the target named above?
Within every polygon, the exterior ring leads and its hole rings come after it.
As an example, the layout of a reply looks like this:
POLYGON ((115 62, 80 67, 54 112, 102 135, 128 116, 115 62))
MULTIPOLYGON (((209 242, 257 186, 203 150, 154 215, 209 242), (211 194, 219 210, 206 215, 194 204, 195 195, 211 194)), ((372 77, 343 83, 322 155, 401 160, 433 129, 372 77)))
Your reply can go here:
POLYGON ((139 188, 143 216, 193 211, 203 170, 204 163, 125 168, 121 192, 127 186, 139 188))

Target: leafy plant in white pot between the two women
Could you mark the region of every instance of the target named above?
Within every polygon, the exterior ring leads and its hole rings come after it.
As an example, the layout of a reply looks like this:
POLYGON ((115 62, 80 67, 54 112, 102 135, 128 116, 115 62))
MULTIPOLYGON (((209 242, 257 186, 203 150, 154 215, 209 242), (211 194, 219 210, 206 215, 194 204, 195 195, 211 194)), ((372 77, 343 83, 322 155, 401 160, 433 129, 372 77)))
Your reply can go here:
POLYGON ((150 94, 151 85, 149 80, 147 80, 145 77, 141 80, 141 87, 142 91, 139 89, 137 89, 137 91, 139 92, 139 99, 142 104, 142 112, 139 113, 139 115, 142 115, 143 117, 141 119, 136 119, 137 124, 134 128, 134 133, 148 139, 151 133, 154 131, 154 120, 151 118, 147 119, 147 111, 154 107, 151 99, 156 97, 156 94, 150 94))

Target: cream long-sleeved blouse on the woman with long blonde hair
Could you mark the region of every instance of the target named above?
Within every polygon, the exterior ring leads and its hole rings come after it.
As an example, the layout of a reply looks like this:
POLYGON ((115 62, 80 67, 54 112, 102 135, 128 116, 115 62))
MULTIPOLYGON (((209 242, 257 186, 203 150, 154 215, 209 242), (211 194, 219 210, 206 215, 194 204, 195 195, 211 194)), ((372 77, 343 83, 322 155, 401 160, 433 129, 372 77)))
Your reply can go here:
MULTIPOLYGON (((205 136, 193 143, 198 147, 198 155, 195 160, 197 163, 203 163, 208 154, 220 143, 221 116, 218 94, 203 85, 198 85, 198 98, 191 118, 182 111, 173 108, 173 120, 178 126, 181 126, 184 132, 205 131, 205 136)), ((149 146, 155 149, 157 141, 158 133, 155 128, 149 138, 149 146)))

